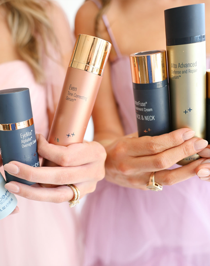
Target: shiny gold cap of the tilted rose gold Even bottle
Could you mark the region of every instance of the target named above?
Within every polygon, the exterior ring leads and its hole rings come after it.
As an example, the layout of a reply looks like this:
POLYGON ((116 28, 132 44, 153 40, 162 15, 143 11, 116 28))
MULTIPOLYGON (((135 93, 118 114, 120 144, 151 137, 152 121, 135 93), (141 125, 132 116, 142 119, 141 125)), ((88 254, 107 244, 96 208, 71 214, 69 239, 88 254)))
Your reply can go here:
POLYGON ((78 34, 69 67, 102 76, 111 47, 111 43, 106 40, 78 34))

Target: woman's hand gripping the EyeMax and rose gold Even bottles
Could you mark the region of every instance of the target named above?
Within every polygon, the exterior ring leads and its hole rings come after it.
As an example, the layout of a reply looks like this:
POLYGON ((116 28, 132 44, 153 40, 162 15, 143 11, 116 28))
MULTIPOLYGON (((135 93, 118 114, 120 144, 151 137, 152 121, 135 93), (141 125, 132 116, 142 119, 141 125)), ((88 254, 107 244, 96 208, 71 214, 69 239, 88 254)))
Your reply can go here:
POLYGON ((31 167, 12 161, 4 165, 5 170, 18 178, 35 182, 27 186, 10 182, 5 188, 10 192, 31 200, 60 203, 74 198, 67 184, 75 184, 82 198, 95 190, 96 184, 105 175, 106 151, 97 142, 71 144, 67 147, 49 144, 39 135, 38 153, 43 158, 55 162, 59 167, 31 167), (40 184, 55 184, 55 188, 44 188, 40 184))

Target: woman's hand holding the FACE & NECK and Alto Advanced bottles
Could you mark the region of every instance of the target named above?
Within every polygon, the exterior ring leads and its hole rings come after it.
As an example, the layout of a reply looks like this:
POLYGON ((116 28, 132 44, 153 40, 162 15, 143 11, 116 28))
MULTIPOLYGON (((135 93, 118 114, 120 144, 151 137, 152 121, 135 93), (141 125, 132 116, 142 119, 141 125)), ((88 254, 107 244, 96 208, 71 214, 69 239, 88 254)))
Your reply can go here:
POLYGON ((176 169, 167 168, 208 145, 203 139, 193 138, 194 135, 191 129, 181 128, 155 137, 134 137, 137 134, 121 137, 106 146, 106 179, 123 187, 142 190, 146 190, 152 172, 156 172, 155 182, 162 186, 189 179, 196 175, 195 168, 203 158, 176 169))

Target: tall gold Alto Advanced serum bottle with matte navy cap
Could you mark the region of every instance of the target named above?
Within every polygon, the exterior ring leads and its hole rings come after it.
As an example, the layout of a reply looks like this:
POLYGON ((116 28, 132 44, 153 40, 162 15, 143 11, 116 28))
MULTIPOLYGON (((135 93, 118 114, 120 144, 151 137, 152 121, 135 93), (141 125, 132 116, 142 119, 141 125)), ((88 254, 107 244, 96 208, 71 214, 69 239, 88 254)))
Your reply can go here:
MULTIPOLYGON (((171 130, 189 127, 206 138, 205 6, 165 10, 171 130)), ((199 158, 187 157, 185 165, 199 158)))

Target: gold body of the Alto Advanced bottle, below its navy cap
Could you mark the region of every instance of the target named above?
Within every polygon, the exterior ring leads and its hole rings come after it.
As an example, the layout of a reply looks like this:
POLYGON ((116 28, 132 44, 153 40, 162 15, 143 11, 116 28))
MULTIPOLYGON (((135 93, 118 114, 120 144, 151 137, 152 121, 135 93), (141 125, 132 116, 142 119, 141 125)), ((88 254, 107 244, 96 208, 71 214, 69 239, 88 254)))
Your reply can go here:
POLYGON ((189 127, 205 139, 205 41, 168 46, 171 129, 189 127))

